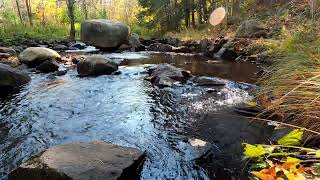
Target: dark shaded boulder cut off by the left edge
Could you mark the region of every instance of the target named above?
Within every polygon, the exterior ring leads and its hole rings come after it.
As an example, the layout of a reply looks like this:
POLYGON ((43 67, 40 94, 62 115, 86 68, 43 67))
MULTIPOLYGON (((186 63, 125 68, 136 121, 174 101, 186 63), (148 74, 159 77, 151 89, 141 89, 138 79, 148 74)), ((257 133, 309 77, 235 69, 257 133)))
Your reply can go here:
POLYGON ((0 88, 15 88, 30 80, 28 74, 0 63, 0 88))

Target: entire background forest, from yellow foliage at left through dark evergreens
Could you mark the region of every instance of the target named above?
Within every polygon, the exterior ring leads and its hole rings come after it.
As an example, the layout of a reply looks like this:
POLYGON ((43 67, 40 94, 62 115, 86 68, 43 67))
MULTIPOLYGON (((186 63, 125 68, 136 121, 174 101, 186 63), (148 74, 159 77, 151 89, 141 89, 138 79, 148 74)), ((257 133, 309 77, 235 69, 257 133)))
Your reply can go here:
MULTIPOLYGON (((289 2, 291 1, 1 0, 0 36, 64 38, 69 35, 70 23, 74 24, 71 26, 74 28, 72 31, 78 35, 82 21, 99 18, 125 22, 133 32, 148 37, 161 36, 167 32, 211 31, 208 21, 211 12, 217 7, 226 8, 226 22, 232 25, 239 23, 241 19, 257 16, 252 12, 253 9, 264 7, 270 10, 289 2)), ((310 2, 310 13, 314 13, 317 1, 310 2)))

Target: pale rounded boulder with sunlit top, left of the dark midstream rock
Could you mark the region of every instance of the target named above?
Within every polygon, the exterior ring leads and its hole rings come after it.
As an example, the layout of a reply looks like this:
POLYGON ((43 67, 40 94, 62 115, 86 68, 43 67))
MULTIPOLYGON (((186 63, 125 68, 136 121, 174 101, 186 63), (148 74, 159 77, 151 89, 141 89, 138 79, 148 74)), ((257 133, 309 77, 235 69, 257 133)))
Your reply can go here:
POLYGON ((36 67, 43 62, 58 61, 61 56, 56 51, 44 47, 30 47, 22 51, 19 55, 19 60, 29 67, 36 67))

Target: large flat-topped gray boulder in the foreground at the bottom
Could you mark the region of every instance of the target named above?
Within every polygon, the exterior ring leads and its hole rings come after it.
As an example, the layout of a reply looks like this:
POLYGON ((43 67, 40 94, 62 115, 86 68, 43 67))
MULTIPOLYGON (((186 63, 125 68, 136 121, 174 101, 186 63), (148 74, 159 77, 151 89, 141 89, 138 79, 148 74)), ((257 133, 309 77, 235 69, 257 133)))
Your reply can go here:
POLYGON ((139 179, 144 152, 97 141, 52 147, 22 164, 9 180, 139 179))

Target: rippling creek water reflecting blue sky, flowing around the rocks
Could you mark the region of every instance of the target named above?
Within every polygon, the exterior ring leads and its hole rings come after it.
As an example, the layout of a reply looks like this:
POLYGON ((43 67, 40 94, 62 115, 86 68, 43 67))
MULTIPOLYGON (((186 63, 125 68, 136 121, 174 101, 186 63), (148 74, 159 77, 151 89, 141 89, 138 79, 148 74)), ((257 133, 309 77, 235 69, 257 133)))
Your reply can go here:
MULTIPOLYGON (((234 81, 254 82, 256 66, 177 54, 143 52, 106 56, 121 62, 120 75, 79 78, 71 70, 65 76, 49 78, 46 74, 29 72, 30 84, 20 93, 0 99, 0 179, 53 145, 94 140, 146 151, 142 179, 217 177, 214 173, 209 177, 212 172, 195 164, 199 154, 189 139, 205 138, 214 148, 220 148, 210 137, 222 138, 228 128, 210 134, 203 121, 212 123, 213 113, 226 113, 226 109, 250 100, 247 85, 234 81), (206 93, 208 87, 191 83, 160 90, 144 80, 146 67, 159 63, 171 63, 193 75, 221 77, 230 82, 215 88, 213 94, 206 93)), ((229 122, 228 117, 219 120, 232 126, 239 118, 233 117, 229 122)), ((214 128, 219 128, 219 123, 214 128)), ((242 127, 233 128, 243 131, 242 127)), ((249 131, 256 131, 254 128, 249 131)), ((234 136, 239 141, 246 139, 237 137, 237 133, 234 136)), ((252 132, 246 136, 253 141, 261 138, 252 132)))

